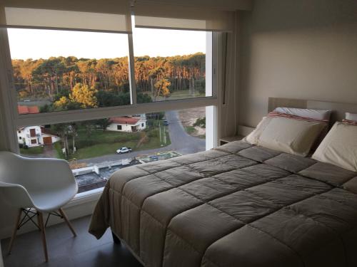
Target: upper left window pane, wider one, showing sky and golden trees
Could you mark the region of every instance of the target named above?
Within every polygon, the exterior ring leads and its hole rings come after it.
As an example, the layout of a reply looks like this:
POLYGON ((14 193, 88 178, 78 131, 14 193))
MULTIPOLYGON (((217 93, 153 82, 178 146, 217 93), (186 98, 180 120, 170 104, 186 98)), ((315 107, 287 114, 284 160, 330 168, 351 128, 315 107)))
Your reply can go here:
POLYGON ((126 34, 8 33, 20 114, 130 105, 126 34))

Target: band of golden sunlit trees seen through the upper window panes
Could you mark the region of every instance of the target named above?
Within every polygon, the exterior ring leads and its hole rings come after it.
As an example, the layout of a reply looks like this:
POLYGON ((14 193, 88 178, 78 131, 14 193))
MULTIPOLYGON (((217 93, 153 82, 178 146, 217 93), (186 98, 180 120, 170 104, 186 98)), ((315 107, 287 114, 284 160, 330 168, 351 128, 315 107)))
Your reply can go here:
MULTIPOLYGON (((137 102, 205 92, 203 53, 134 58, 137 102)), ((12 60, 19 101, 36 101, 41 112, 129 105, 128 58, 51 57, 12 60)))

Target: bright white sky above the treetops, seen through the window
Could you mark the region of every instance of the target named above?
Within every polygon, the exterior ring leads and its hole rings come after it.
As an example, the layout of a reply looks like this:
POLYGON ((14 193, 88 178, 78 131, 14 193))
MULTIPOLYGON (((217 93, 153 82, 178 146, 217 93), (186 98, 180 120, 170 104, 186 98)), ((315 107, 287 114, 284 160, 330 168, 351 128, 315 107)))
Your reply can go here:
MULTIPOLYGON (((12 59, 51 56, 120 58, 128 56, 128 36, 120 33, 9 28, 12 59)), ((133 28, 134 56, 206 53, 206 32, 133 28)))

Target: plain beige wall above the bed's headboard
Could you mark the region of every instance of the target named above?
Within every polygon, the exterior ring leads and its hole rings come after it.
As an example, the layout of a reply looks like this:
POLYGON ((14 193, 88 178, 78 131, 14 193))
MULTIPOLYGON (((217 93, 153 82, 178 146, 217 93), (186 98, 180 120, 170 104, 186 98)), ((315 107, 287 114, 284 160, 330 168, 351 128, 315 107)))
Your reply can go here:
POLYGON ((268 97, 357 103, 357 1, 256 0, 241 12, 238 123, 268 97))

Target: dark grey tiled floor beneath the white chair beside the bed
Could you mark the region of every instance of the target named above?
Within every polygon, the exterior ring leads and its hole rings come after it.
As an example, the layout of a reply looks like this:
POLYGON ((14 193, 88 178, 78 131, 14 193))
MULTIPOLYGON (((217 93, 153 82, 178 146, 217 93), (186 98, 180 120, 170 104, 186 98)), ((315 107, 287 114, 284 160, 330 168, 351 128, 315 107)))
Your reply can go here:
POLYGON ((96 240, 88 233, 90 216, 72 221, 77 237, 71 235, 66 224, 50 226, 46 229, 49 263, 44 263, 39 231, 16 237, 11 255, 6 254, 9 239, 1 241, 5 267, 65 266, 94 267, 120 266, 141 267, 124 245, 116 245, 111 232, 96 240))

